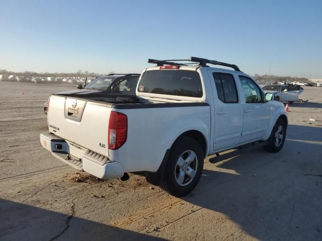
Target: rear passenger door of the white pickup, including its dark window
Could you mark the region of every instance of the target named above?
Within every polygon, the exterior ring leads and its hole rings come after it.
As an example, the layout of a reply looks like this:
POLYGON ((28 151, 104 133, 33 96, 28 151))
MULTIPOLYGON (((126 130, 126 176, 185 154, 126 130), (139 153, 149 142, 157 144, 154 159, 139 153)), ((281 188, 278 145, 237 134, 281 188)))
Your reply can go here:
POLYGON ((238 145, 243 130, 243 99, 238 96, 234 76, 230 73, 208 70, 215 89, 214 150, 238 145))

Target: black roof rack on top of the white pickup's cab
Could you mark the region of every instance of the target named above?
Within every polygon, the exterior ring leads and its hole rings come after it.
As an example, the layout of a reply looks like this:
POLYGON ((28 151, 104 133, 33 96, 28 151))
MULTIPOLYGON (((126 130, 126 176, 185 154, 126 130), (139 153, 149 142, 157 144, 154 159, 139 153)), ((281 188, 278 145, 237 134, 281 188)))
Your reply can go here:
POLYGON ((147 62, 151 64, 156 64, 156 66, 163 66, 164 64, 168 65, 188 65, 191 63, 176 63, 176 62, 170 62, 170 61, 189 61, 189 62, 197 62, 199 65, 203 67, 207 67, 207 64, 213 64, 213 65, 221 65, 221 66, 226 66, 233 68, 235 71, 240 71, 237 65, 235 64, 227 64, 224 62, 219 62, 216 60, 209 60, 209 59, 204 59, 204 58, 198 58, 198 57, 190 57, 189 59, 168 59, 168 60, 156 60, 156 59, 148 59, 147 62))

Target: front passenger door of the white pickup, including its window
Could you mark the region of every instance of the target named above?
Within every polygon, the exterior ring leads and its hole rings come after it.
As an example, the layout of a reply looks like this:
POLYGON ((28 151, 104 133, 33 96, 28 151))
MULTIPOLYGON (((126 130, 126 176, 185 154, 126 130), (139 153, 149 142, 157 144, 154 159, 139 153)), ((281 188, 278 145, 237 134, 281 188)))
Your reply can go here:
POLYGON ((264 137, 270 116, 269 102, 264 93, 251 78, 239 75, 239 85, 244 92, 244 124, 240 144, 264 137))

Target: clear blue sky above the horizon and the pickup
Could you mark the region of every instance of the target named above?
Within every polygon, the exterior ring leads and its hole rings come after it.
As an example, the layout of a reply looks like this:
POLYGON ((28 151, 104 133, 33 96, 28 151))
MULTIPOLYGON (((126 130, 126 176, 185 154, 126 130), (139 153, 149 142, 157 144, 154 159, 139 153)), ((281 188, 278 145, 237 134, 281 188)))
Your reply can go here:
POLYGON ((141 72, 204 57, 322 78, 322 1, 0 0, 0 69, 141 72))

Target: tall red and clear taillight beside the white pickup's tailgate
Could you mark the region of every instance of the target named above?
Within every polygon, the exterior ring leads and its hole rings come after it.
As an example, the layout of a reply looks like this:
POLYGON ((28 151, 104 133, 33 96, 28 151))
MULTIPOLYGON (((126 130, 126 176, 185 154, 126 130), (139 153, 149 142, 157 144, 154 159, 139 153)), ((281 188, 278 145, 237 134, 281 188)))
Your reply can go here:
POLYGON ((111 111, 108 131, 109 149, 119 149, 127 138, 127 116, 111 111))

